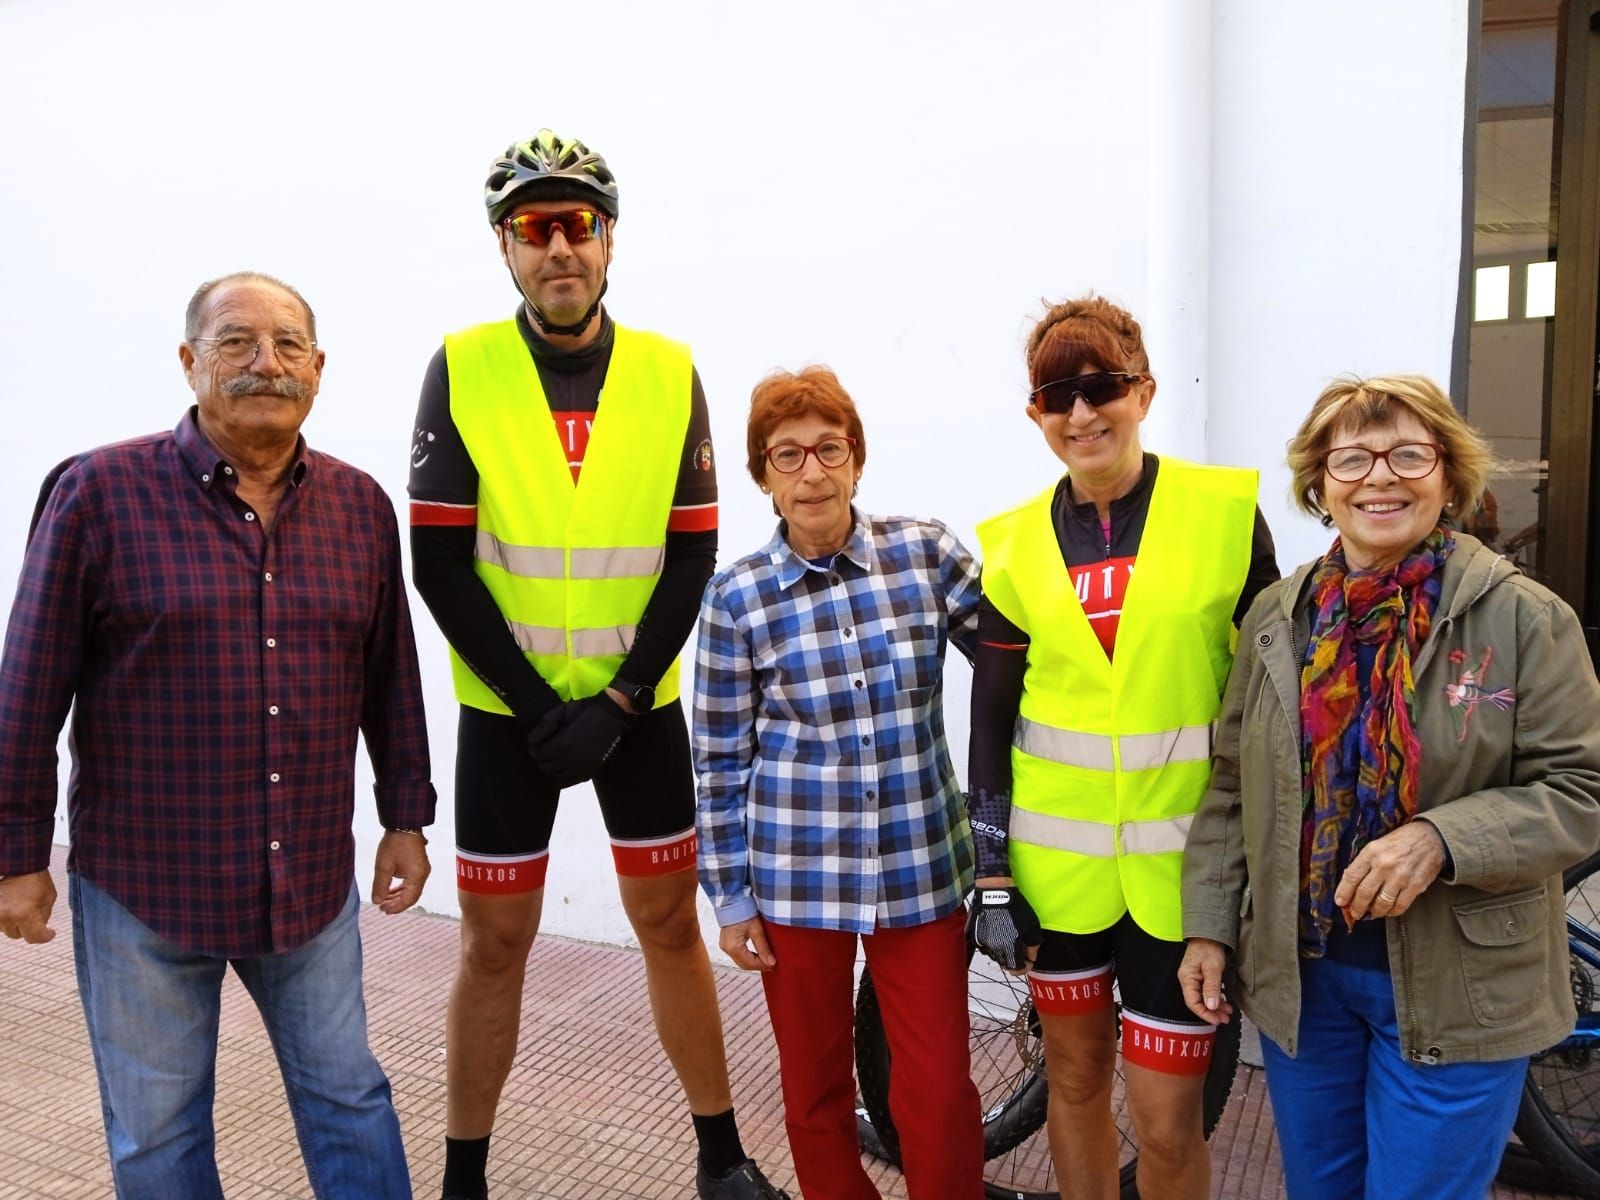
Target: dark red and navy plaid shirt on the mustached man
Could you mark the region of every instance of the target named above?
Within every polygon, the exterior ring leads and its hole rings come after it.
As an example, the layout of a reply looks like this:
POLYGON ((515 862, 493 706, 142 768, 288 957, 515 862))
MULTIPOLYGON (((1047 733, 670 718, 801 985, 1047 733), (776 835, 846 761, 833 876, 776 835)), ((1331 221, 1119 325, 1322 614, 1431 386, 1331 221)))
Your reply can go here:
POLYGON ((270 531, 195 424, 45 483, 0 662, 0 874, 69 866, 197 954, 291 950, 350 898, 355 734, 389 827, 434 819, 394 506, 306 448, 270 531))

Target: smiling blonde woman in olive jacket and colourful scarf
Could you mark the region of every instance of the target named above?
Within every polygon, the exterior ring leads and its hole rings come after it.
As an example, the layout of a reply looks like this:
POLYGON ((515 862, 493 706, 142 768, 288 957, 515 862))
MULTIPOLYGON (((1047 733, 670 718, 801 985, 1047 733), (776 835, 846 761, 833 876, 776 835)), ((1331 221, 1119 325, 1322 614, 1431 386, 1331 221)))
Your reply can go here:
POLYGON ((1571 608, 1448 526, 1490 454, 1437 386, 1330 386, 1290 466, 1339 538, 1240 629, 1184 998, 1259 1026, 1291 1200, 1482 1197, 1528 1054, 1574 1024, 1562 870, 1600 845, 1600 685, 1571 608))

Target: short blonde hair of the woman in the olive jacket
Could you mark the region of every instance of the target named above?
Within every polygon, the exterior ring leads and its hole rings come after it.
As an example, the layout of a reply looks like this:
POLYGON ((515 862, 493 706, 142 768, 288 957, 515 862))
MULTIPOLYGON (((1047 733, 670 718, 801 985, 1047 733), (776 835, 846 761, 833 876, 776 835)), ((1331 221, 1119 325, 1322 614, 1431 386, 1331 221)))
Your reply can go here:
POLYGON ((1290 438, 1288 462, 1294 474, 1290 494, 1294 502, 1312 517, 1326 517, 1323 458, 1333 448, 1334 435, 1392 426, 1402 413, 1414 416, 1445 448, 1440 469, 1458 520, 1477 509, 1494 469, 1494 454, 1438 384, 1422 374, 1346 376, 1328 384, 1290 438))

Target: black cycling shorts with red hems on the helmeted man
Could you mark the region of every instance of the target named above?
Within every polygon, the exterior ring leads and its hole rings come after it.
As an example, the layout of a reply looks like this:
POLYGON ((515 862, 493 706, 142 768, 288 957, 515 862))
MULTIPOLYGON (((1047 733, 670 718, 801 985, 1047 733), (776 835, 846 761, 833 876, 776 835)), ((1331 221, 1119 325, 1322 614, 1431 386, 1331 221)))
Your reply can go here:
MULTIPOLYGON (((683 707, 640 717, 594 778, 621 875, 694 866, 694 771, 683 707)), ((515 718, 461 707, 456 886, 510 894, 544 886, 560 789, 534 766, 515 718)))

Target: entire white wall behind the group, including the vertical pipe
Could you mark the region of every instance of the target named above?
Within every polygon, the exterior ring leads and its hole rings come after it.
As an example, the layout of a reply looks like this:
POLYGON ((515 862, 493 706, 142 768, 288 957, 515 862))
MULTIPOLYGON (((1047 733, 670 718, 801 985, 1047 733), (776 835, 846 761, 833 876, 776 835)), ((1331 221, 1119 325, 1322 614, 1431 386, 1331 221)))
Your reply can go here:
MULTIPOLYGON (((741 448, 774 366, 827 362, 854 394, 869 509, 971 538, 1045 486, 1021 362, 1040 298, 1093 286, 1144 317, 1158 451, 1270 469, 1328 374, 1448 374, 1453 0, 976 13, 0 3, 0 586, 53 462, 178 419, 182 307, 242 267, 317 307, 307 437, 403 506, 424 363, 445 330, 515 304, 482 179, 541 125, 621 181, 611 310, 696 349, 725 558, 771 531, 741 448)), ((1282 486, 1264 491, 1282 525, 1282 486)), ((1280 534, 1285 563, 1320 549, 1310 528, 1280 534)), ((442 795, 424 904, 454 912, 454 706, 416 619, 442 795)), ((966 682, 955 659, 958 762, 966 682)), ((357 808, 370 856, 366 794, 357 808)), ((566 810, 546 928, 626 941, 598 814, 586 794, 566 810)))

